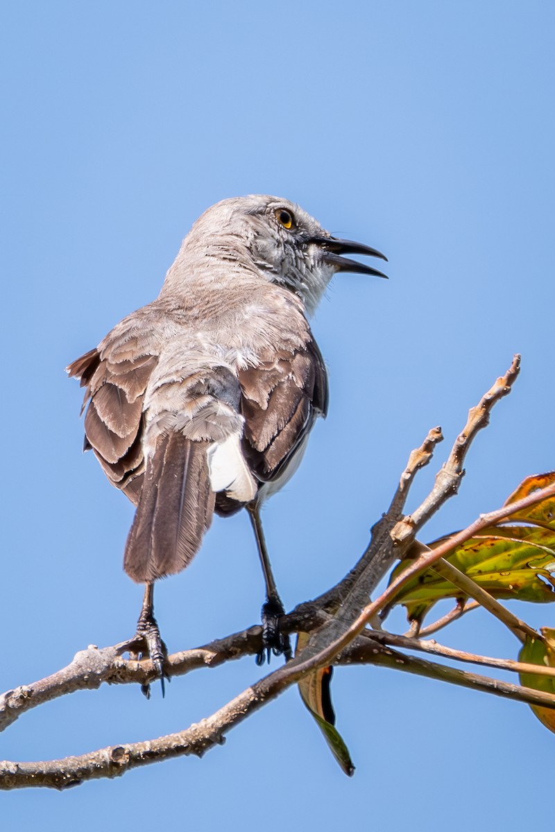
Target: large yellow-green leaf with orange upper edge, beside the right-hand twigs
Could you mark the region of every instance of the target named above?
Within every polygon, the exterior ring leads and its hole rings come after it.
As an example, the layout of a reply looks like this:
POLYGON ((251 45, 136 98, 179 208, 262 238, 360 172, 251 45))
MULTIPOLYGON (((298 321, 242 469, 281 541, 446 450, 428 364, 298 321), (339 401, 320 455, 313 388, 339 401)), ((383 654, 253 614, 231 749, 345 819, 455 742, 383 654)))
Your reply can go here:
MULTIPOLYGON (((553 482, 555 472, 528 477, 504 504, 514 503, 553 482)), ((449 537, 452 535, 429 543, 429 548, 438 547, 449 537)), ((447 560, 495 598, 536 603, 555 601, 555 498, 544 499, 497 525, 484 528, 457 547, 447 560)), ((410 561, 409 552, 394 568, 389 580, 398 577, 410 561)), ((430 569, 406 584, 394 603, 406 607, 409 621, 421 622, 434 603, 444 598, 466 600, 458 587, 430 569)))

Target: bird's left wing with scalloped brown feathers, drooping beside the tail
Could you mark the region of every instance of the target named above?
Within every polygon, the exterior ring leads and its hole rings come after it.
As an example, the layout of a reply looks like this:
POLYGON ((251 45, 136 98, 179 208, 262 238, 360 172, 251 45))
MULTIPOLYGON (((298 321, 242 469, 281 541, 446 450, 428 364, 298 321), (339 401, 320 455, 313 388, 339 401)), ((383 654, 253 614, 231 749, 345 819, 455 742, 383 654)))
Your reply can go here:
POLYGON ((87 388, 83 409, 91 400, 85 416, 84 449, 92 448, 112 485, 135 504, 144 473, 142 404, 156 361, 157 356, 151 354, 131 359, 121 347, 102 353, 91 349, 67 368, 87 388))

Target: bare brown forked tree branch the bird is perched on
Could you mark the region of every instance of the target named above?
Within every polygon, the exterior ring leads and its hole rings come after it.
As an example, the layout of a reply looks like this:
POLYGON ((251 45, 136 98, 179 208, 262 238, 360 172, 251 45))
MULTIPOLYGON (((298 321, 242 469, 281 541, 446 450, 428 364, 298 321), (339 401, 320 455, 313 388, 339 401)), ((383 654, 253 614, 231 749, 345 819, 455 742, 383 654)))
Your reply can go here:
MULTIPOLYGON (((77 785, 83 780, 121 775, 138 765, 146 765, 172 756, 200 756, 214 745, 221 744, 224 741, 224 735, 250 713, 275 699, 307 674, 334 663, 371 663, 389 666, 396 670, 450 681, 453 684, 487 691, 498 696, 508 696, 529 704, 555 707, 555 696, 550 694, 509 685, 506 682, 434 664, 434 662, 414 656, 406 656, 391 649, 389 643, 394 643, 393 641, 385 640, 397 639, 396 643, 399 646, 406 646, 411 650, 426 649, 439 655, 446 655, 440 652, 439 646, 433 650, 421 646, 424 642, 414 638, 393 636, 383 632, 369 632, 364 629, 380 610, 394 600, 399 588, 403 587, 411 577, 437 564, 439 558, 453 551, 488 524, 498 522, 518 509, 529 508, 534 503, 555 494, 555 485, 553 485, 544 488, 541 492, 528 495, 518 503, 505 506, 497 512, 482 515, 463 532, 459 532, 440 544, 433 552, 420 555, 375 602, 368 603, 370 593, 374 591, 394 560, 403 557, 404 552, 414 542, 416 530, 457 491, 458 483, 463 476, 463 459, 468 447, 478 430, 488 423, 493 404, 510 391, 517 377, 518 367, 519 357, 515 356, 508 372, 498 379, 477 407, 470 410, 467 424, 454 443, 448 462, 439 472, 432 492, 421 506, 410 517, 403 517, 410 484, 419 468, 429 462, 435 444, 441 441, 440 428, 431 430, 422 446, 410 454, 389 511, 374 525, 369 546, 359 562, 330 591, 325 592, 315 601, 300 604, 289 615, 283 617, 281 626, 284 632, 303 631, 311 634, 307 646, 300 652, 300 655, 255 682, 205 720, 175 734, 157 740, 113 745, 90 754, 67 757, 64 760, 37 763, 4 761, 0 763, 0 788, 12 789, 27 785, 42 785, 63 789, 69 785, 77 785)), ((462 611, 457 612, 457 615, 460 614, 462 611)), ((444 621, 447 618, 453 620, 454 617, 457 616, 451 613, 448 617, 444 617, 444 621)), ((436 628, 439 628, 440 622, 436 622, 436 628)), ((538 634, 536 637, 539 637, 538 634)), ((122 642, 102 650, 90 646, 86 651, 77 653, 67 667, 52 676, 47 676, 46 679, 32 685, 7 691, 0 697, 0 729, 11 724, 24 711, 72 691, 97 688, 103 682, 111 684, 138 682, 144 685, 151 681, 155 676, 151 661, 131 661, 124 657, 123 654, 129 650, 130 644, 131 642, 122 642)), ((181 651, 168 656, 165 669, 168 676, 175 676, 199 667, 216 667, 224 661, 257 654, 260 647, 261 628, 253 626, 194 650, 181 651)), ((441 649, 448 650, 449 648, 441 649)), ((451 657, 458 661, 473 661, 470 656, 472 654, 453 651, 451 657), (454 655, 455 653, 457 655, 454 655)), ((487 664, 488 661, 502 661, 488 660, 486 657, 480 657, 480 659, 480 663, 483 664, 487 664)), ((509 669, 522 671, 523 667, 527 667, 518 662, 514 665, 515 667, 509 669)), ((504 666, 507 669, 508 665, 504 666)))

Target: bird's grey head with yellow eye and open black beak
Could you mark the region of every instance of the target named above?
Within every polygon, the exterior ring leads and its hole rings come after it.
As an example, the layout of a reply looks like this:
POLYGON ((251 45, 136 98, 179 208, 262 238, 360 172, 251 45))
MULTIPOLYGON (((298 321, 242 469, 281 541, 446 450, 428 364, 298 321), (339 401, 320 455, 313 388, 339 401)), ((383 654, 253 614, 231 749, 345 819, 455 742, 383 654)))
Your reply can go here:
POLYGON ((385 277, 343 255, 381 257, 369 245, 339 240, 300 206, 276 196, 239 196, 211 206, 184 240, 186 250, 202 250, 228 263, 254 266, 265 280, 299 295, 309 312, 338 271, 385 277))

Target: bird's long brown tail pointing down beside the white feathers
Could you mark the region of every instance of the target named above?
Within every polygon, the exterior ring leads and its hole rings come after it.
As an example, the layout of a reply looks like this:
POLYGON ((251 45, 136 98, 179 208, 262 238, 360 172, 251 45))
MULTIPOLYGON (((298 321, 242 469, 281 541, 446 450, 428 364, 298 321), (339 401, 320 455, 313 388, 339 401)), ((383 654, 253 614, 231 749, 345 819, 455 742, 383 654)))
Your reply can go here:
POLYGON ((127 537, 124 568, 136 582, 181 572, 212 521, 206 443, 161 436, 146 464, 141 499, 127 537))

